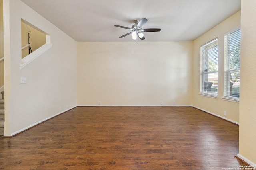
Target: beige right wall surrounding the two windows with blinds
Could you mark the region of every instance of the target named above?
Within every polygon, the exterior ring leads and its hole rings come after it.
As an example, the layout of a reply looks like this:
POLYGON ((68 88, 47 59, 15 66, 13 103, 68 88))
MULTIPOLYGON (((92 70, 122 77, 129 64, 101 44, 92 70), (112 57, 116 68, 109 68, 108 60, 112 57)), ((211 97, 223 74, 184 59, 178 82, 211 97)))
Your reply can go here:
MULTIPOLYGON (((239 104, 235 102, 224 101, 223 83, 224 83, 224 34, 238 29, 240 27, 240 11, 226 19, 216 27, 210 29, 196 40, 194 40, 193 50, 193 106, 204 109, 210 113, 224 117, 226 119, 239 122, 239 104), (218 99, 200 96, 200 46, 218 37, 218 99)), ((241 80, 242 82, 242 80, 241 80)))

